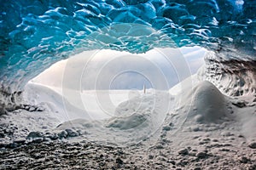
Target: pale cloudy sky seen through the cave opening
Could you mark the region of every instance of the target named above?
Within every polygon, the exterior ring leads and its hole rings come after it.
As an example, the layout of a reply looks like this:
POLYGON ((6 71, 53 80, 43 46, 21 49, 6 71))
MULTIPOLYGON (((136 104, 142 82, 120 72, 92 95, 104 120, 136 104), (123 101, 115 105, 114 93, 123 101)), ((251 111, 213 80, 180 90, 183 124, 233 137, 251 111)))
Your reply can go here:
MULTIPOLYGON (((179 50, 187 60, 191 74, 195 74, 204 63, 203 57, 207 50, 200 47, 184 47, 179 50)), ((74 83, 80 83, 80 89, 76 90, 143 89, 143 85, 147 88, 156 88, 154 82, 158 81, 158 77, 149 80, 148 74, 157 70, 162 72, 168 82, 168 86, 158 88, 167 90, 179 82, 174 67, 175 65, 170 65, 166 58, 154 49, 146 54, 101 50, 93 56, 84 56, 82 53, 61 60, 33 78, 31 82, 55 88, 74 88, 74 83), (129 59, 129 55, 133 59, 129 59), (90 60, 81 60, 84 58, 90 60), (146 71, 140 72, 138 67, 143 67, 146 71), (102 72, 104 77, 101 77, 102 72), (65 81, 65 86, 62 86, 63 78, 68 80, 65 81)))

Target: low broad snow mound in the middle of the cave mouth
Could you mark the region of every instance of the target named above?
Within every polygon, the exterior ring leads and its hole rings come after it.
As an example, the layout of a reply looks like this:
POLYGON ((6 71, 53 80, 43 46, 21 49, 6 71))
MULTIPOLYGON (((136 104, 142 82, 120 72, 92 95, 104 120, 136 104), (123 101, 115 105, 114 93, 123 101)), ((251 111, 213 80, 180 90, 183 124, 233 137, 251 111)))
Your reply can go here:
POLYGON ((82 134, 79 138, 107 144, 130 145, 149 138, 155 142, 172 106, 170 94, 155 91, 122 102, 109 119, 73 120, 61 123, 55 130, 73 129, 82 134))

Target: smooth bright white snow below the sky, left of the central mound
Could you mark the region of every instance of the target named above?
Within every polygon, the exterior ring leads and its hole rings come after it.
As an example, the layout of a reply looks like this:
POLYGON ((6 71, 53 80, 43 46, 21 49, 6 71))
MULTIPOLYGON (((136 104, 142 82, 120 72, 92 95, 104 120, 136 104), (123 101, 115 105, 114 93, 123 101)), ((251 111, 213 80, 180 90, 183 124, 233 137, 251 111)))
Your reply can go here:
POLYGON ((29 82, 26 85, 23 99, 30 105, 41 106, 51 112, 59 122, 67 122, 74 119, 102 120, 110 118, 121 102, 137 95, 139 94, 136 90, 80 92, 29 82))

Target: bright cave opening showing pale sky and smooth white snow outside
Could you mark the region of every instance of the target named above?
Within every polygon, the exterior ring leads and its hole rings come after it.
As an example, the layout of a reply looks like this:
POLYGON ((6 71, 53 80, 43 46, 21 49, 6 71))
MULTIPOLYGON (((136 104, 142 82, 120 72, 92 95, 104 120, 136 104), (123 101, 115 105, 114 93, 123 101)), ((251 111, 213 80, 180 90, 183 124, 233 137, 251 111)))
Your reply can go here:
POLYGON ((26 84, 26 99, 61 121, 102 120, 127 99, 168 90, 199 70, 205 48, 154 48, 145 54, 84 51, 51 65, 26 84), (164 51, 164 52, 163 52, 164 51), (66 113, 66 114, 63 114, 66 113))

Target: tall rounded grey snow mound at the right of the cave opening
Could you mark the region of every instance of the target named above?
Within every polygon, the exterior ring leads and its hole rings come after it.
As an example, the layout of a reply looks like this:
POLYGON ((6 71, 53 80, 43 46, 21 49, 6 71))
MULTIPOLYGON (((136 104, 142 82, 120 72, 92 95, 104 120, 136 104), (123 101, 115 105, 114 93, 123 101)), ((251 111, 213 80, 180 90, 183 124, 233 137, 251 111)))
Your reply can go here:
POLYGON ((198 82, 195 88, 179 94, 177 101, 178 113, 188 113, 186 120, 195 123, 218 123, 229 112, 224 95, 212 82, 198 82))

